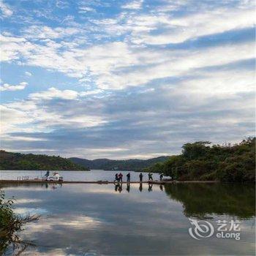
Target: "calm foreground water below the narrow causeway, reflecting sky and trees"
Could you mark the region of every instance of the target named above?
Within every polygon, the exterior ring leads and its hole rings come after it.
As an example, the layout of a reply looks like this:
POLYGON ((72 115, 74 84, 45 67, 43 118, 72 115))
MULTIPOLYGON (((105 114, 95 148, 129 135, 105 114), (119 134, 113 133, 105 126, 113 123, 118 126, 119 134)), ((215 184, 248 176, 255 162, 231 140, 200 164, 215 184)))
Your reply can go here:
MULTIPOLYGON (((84 175, 79 173, 75 176, 84 175)), ((110 175, 94 173, 94 180, 110 175)), ((3 189, 15 196, 17 213, 41 215, 20 233, 36 244, 23 255, 255 255, 254 185, 26 184, 3 189), (214 235, 189 236, 189 218, 208 221, 214 235), (241 239, 217 238, 218 220, 239 220, 241 239)))

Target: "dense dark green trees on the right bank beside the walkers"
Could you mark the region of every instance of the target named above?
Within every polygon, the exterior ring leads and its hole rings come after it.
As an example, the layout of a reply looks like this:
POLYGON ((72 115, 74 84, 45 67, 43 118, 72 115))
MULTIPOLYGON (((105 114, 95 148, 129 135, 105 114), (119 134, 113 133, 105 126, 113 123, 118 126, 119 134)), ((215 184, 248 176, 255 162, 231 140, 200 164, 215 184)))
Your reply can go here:
POLYGON ((164 173, 181 181, 255 182, 255 138, 224 146, 198 141, 182 148, 180 155, 144 170, 164 173))

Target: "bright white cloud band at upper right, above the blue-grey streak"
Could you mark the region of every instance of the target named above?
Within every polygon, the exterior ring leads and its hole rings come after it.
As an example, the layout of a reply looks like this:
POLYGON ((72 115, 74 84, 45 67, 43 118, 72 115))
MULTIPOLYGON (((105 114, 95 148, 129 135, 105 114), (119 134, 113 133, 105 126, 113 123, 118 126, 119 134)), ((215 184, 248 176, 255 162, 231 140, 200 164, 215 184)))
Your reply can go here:
POLYGON ((248 10, 217 9, 178 18, 167 14, 140 15, 129 20, 133 31, 132 41, 149 45, 179 43, 232 29, 253 27, 254 24, 255 10, 249 8, 248 10), (161 31, 161 29, 165 30, 161 31), (159 33, 152 35, 151 31, 159 31, 159 33))

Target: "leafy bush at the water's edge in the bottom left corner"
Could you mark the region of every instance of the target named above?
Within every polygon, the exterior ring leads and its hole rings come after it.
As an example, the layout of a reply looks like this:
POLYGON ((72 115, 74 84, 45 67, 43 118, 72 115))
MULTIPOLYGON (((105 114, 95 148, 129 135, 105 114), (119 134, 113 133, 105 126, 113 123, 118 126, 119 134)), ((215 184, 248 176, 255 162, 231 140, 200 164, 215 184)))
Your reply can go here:
POLYGON ((18 232, 27 222, 39 217, 20 217, 12 209, 13 202, 13 199, 5 200, 4 192, 0 190, 0 255, 20 255, 27 246, 33 246, 29 241, 21 240, 18 232))

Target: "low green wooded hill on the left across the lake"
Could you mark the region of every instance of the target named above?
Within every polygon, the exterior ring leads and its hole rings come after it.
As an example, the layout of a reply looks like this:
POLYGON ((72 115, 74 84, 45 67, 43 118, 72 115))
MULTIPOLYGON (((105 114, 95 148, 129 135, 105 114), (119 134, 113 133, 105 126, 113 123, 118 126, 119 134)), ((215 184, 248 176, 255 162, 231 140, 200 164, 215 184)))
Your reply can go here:
POLYGON ((63 157, 0 151, 0 170, 89 170, 63 157))

